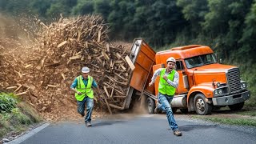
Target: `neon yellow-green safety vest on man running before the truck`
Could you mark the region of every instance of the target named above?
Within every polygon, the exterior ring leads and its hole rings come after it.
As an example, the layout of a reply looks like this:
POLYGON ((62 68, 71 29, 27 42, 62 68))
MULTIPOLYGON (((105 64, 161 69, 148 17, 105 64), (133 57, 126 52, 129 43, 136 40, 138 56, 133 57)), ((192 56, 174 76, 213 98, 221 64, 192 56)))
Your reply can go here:
MULTIPOLYGON (((176 88, 174 86, 170 86, 168 82, 166 82, 166 80, 162 78, 165 73, 166 73, 166 69, 162 69, 160 72, 160 81, 158 85, 158 91, 161 94, 174 96, 176 88)), ((167 75, 167 78, 172 82, 174 81, 174 74, 175 74, 175 70, 172 70, 171 73, 167 75)))

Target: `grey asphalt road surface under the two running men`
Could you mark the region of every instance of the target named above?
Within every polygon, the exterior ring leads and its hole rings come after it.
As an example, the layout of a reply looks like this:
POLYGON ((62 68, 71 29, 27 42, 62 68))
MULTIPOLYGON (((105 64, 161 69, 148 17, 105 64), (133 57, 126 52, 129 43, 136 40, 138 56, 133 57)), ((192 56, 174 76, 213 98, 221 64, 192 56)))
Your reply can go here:
POLYGON ((59 122, 27 138, 22 144, 49 143, 214 143, 256 144, 256 128, 224 126, 175 117, 182 137, 170 130, 165 114, 129 115, 96 119, 92 127, 82 122, 59 122))

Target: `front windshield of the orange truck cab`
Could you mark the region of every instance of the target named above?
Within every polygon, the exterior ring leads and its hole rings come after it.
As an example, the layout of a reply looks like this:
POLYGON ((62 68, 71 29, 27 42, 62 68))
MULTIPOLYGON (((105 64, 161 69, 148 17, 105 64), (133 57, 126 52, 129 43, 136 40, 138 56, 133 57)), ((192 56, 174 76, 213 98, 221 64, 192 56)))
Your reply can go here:
POLYGON ((186 67, 188 69, 198 66, 209 65, 216 62, 217 60, 214 54, 204 54, 185 59, 186 67))

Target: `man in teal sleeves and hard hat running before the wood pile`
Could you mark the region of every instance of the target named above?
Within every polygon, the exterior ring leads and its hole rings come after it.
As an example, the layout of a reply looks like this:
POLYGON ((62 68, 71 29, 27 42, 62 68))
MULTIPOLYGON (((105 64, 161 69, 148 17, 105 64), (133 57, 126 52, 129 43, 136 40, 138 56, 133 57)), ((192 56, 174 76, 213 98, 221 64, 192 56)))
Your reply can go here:
POLYGON ((78 103, 78 113, 85 116, 85 104, 86 104, 86 126, 91 126, 91 114, 94 108, 94 88, 98 88, 94 78, 89 75, 90 69, 88 67, 82 67, 82 75, 79 75, 74 79, 74 82, 70 86, 71 90, 75 92, 75 98, 78 103))

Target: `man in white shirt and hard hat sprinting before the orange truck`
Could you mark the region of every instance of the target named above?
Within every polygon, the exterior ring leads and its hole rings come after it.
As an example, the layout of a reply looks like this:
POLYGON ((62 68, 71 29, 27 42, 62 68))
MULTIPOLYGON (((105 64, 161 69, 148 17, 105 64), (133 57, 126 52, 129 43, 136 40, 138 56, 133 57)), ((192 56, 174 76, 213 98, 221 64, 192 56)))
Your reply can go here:
POLYGON ((174 135, 182 136, 182 132, 178 129, 178 124, 174 119, 174 114, 170 107, 170 102, 174 98, 179 79, 178 72, 174 70, 175 64, 175 58, 168 58, 166 60, 166 68, 160 68, 154 72, 149 86, 154 84, 155 79, 159 75, 160 80, 158 84, 158 104, 154 109, 154 113, 158 113, 160 110, 164 110, 166 112, 169 126, 171 130, 174 131, 174 135))

